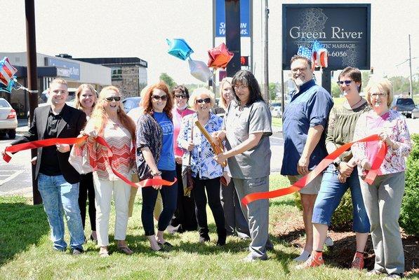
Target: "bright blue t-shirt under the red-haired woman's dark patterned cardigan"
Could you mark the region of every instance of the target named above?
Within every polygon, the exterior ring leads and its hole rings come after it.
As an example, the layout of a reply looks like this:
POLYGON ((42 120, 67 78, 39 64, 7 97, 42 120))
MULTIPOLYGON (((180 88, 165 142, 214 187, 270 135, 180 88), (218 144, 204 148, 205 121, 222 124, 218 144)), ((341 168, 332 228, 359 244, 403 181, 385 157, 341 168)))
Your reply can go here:
POLYGON ((159 123, 161 130, 163 131, 163 143, 160 160, 157 162, 157 168, 160 170, 173 171, 176 169, 175 151, 173 150, 173 123, 164 112, 154 112, 154 119, 159 123))

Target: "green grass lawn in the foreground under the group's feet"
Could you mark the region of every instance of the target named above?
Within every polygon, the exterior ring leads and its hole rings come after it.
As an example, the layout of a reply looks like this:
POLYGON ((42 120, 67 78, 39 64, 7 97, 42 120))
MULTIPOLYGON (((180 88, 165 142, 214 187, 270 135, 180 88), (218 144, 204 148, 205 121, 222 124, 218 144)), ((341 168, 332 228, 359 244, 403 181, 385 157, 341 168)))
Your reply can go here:
MULTIPOLYGON (((272 189, 288 186, 288 181, 279 174, 273 174, 270 183, 272 189)), ((271 200, 270 233, 275 250, 268 252, 269 260, 252 263, 241 262, 247 255, 248 241, 228 237, 226 246, 215 246, 215 224, 209 209, 210 243, 199 244, 197 232, 166 235, 173 249, 154 253, 145 239, 140 211, 138 197, 133 218, 128 222, 127 242, 135 251, 133 255, 118 253, 112 244, 109 258, 100 258, 98 248, 89 241, 86 253, 73 256, 69 251, 58 253, 51 248, 42 206, 32 206, 23 197, 0 197, 0 279, 380 279, 333 265, 295 270, 292 259, 299 249, 281 235, 272 234, 276 232, 274 226, 301 216, 292 195, 271 200)), ((88 228, 88 221, 86 224, 88 228)), ((112 233, 113 208, 109 227, 112 233)), ((69 239, 68 234, 66 238, 69 239)))

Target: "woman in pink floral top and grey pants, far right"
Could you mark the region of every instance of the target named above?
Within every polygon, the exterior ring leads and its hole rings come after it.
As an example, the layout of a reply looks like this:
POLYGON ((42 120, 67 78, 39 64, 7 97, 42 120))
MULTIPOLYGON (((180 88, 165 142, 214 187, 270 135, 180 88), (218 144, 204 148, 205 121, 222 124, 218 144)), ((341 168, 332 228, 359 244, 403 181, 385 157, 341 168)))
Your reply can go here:
POLYGON ((379 134, 381 141, 352 146, 354 162, 358 164, 361 193, 371 223, 375 252, 374 269, 368 274, 388 274, 389 279, 401 278, 404 272, 404 253, 399 231, 401 200, 404 194, 406 157, 411 151, 411 139, 406 119, 390 109, 392 85, 385 78, 372 78, 366 86, 366 99, 373 111, 359 116, 354 140, 379 134), (364 182, 366 171, 380 145, 388 150, 378 176, 372 185, 364 182))

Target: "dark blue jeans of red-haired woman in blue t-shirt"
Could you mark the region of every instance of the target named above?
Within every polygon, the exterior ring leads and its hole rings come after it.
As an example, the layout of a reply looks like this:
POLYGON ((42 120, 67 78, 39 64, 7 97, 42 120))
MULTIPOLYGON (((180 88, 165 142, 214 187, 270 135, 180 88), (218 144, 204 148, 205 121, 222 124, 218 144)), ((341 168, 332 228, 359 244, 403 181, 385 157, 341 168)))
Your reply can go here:
MULTIPOLYGON (((176 177, 176 170, 160 170, 161 179, 172 181, 176 177)), ((156 205, 157 193, 159 190, 155 190, 152 187, 141 188, 142 193, 142 209, 141 209, 141 220, 142 227, 144 228, 145 235, 154 235, 154 221, 153 211, 156 205)), ((163 211, 159 216, 158 229, 160 231, 166 230, 168 224, 171 222, 171 218, 176 210, 176 202, 178 202, 178 183, 174 183, 173 186, 163 186, 160 190, 161 200, 163 200, 163 211)))

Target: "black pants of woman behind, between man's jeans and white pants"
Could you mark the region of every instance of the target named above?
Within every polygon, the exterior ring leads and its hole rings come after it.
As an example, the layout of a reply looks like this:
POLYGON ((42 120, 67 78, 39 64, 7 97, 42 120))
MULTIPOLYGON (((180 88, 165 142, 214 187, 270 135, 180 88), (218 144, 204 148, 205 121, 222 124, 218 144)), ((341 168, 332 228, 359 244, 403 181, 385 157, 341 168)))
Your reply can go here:
POLYGON ((92 231, 96 230, 96 207, 95 207, 95 187, 93 186, 93 173, 81 175, 79 185, 79 208, 81 223, 86 224, 86 202, 88 199, 88 216, 91 221, 92 231))

